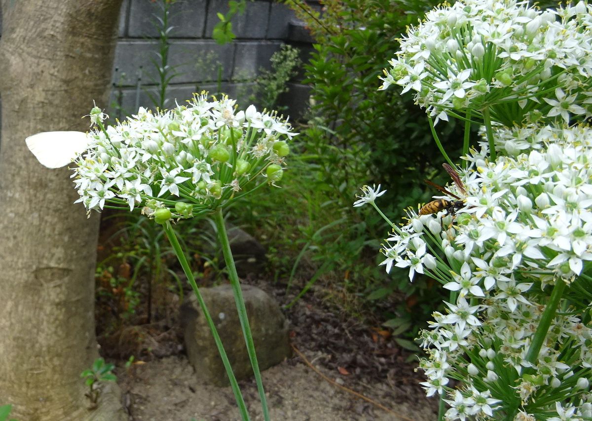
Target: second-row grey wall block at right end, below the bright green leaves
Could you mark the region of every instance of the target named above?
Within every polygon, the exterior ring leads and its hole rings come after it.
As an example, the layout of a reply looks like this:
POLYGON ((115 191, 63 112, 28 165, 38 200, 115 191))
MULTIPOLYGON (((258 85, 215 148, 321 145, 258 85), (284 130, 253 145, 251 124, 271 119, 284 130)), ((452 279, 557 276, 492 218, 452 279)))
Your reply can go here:
POLYGON ((279 50, 281 43, 236 43, 236 57, 232 77, 234 80, 253 79, 259 68, 269 69, 269 59, 279 50))

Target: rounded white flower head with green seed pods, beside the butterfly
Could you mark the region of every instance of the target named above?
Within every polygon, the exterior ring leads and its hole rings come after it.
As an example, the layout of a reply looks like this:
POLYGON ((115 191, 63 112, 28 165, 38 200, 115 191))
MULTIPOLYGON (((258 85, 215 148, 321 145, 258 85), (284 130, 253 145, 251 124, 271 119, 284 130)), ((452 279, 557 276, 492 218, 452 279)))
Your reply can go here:
POLYGON ((144 205, 148 215, 156 208, 195 215, 260 185, 259 176, 279 181, 289 153, 282 139, 294 135, 276 114, 253 105, 237 111, 234 100, 208 100, 205 93, 170 111, 140 108, 123 123, 88 133, 89 149, 72 176, 78 202, 89 210, 110 202, 130 210, 144 205))

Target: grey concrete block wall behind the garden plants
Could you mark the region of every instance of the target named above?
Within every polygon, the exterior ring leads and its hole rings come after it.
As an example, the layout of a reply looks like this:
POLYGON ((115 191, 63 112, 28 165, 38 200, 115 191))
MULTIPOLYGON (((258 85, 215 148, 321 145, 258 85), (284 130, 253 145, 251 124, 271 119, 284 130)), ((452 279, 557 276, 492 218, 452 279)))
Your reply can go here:
MULTIPOLYGON (((169 23, 174 28, 169 34, 169 65, 175 66, 177 75, 170 81, 166 107, 175 101, 183 103, 201 90, 227 93, 242 104, 247 101, 250 81, 259 69, 269 69, 269 59, 281 44, 299 47, 303 60, 308 57, 312 40, 294 13, 269 0, 247 1, 244 14, 232 21, 236 39, 218 45, 212 30, 219 21, 217 13, 227 10, 227 0, 177 0, 170 8, 169 23)), ((112 74, 112 116, 121 118, 138 106, 152 105, 148 92, 155 92, 153 60, 159 60, 155 15, 162 15, 157 2, 124 0, 112 74)), ((298 80, 288 86, 282 105, 297 118, 308 106, 308 88, 298 80)))

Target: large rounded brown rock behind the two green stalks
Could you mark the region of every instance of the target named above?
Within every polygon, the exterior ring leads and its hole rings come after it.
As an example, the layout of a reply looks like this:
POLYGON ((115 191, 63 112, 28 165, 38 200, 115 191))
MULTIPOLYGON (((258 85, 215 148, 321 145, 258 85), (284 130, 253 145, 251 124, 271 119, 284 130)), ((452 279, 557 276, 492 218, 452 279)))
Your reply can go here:
MULTIPOLYGON (((259 369, 266 370, 284 361, 291 354, 288 341, 288 322, 278 303, 259 288, 242 286, 259 369)), ((238 380, 253 375, 244 344, 239 315, 229 284, 200 289, 214 319, 234 375, 238 380)), ((228 386, 229 380, 216 348, 210 328, 205 321, 195 296, 181 306, 181 323, 185 333, 185 348, 189 361, 204 383, 228 386)))

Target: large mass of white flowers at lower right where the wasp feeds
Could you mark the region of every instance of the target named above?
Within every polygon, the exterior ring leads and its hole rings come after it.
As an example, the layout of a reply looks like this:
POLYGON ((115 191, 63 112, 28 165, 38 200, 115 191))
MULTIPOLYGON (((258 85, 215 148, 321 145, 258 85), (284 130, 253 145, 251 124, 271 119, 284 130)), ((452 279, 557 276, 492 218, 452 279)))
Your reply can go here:
POLYGON ((464 208, 455 215, 410 211, 410 223, 395 229, 383 250, 387 271, 395 265, 409 268, 410 277, 427 273, 456 295, 422 332, 429 352, 423 385, 429 396, 449 394, 449 420, 497 419, 507 396, 522 410, 515 419, 592 417, 592 129, 500 128, 495 137, 511 156, 491 162, 482 143, 466 157, 464 208), (530 362, 537 320, 556 283, 567 284, 567 301, 530 362), (503 374, 505 367, 514 375, 503 374), (465 386, 446 388, 449 378, 465 386), (556 407, 566 396, 570 405, 556 407))

